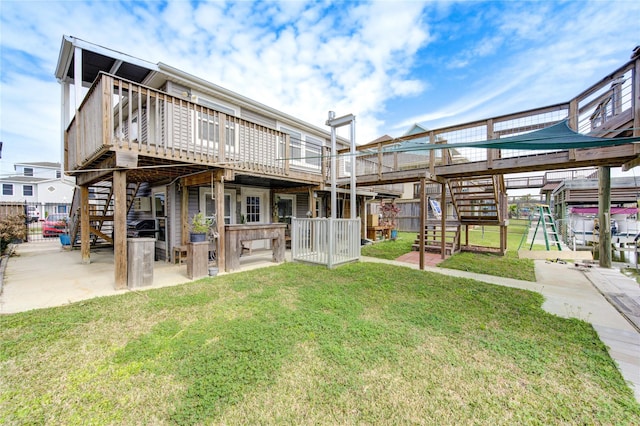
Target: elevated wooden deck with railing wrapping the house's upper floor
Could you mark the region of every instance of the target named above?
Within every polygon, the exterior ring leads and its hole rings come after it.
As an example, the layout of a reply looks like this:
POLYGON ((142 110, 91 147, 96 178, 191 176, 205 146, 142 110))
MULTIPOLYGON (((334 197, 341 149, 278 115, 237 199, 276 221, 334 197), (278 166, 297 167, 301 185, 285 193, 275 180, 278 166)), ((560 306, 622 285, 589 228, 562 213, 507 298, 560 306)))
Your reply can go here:
POLYGON ((128 169, 129 181, 154 182, 212 167, 320 184, 322 149, 317 161, 300 166, 286 133, 101 74, 67 128, 65 165, 80 185, 113 168, 128 169))

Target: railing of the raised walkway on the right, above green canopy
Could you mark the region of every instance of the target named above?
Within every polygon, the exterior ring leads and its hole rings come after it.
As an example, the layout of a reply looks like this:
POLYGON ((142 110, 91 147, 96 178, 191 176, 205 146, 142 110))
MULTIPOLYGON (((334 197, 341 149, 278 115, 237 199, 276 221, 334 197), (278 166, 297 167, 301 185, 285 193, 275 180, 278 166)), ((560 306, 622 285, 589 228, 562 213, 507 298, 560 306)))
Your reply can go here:
MULTIPOLYGON (((623 129, 633 127, 634 114, 640 108, 634 93, 639 84, 637 70, 640 58, 628 62, 569 102, 529 111, 494 117, 471 123, 434 129, 422 134, 395 140, 358 146, 358 156, 351 159, 346 150, 340 151, 339 164, 355 162, 358 176, 379 175, 405 170, 433 170, 435 166, 538 155, 566 150, 499 150, 466 148, 460 143, 486 141, 529 133, 569 120, 569 126, 582 134, 616 136, 623 129), (442 150, 420 150, 424 144, 442 144, 442 150), (411 145, 411 149, 407 149, 411 145)), ((342 167, 343 177, 349 167, 342 167)))

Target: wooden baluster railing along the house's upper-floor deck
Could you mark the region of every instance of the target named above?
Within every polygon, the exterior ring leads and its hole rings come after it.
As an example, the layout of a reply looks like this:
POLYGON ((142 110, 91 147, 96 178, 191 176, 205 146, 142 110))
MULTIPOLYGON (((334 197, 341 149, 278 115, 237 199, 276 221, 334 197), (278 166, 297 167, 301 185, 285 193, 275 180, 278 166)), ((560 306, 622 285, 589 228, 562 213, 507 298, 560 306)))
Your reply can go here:
MULTIPOLYGON (((290 172, 289 135, 149 87, 101 74, 66 134, 75 170, 105 149, 261 175, 290 172)), ((322 172, 305 170, 322 180, 322 172)))

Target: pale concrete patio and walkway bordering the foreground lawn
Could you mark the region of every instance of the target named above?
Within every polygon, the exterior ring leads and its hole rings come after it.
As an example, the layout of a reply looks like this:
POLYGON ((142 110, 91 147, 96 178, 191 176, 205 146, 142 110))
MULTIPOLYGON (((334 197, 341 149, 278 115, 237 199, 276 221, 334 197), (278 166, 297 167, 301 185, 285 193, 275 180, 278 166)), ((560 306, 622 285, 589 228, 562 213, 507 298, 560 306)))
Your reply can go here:
MULTIPOLYGON (((362 261, 419 269, 418 253, 413 253, 404 256, 402 262, 368 257, 363 257, 362 261)), ((427 265, 435 265, 439 257, 430 259, 427 265)), ((246 256, 241 259, 241 268, 246 271, 274 265, 270 260, 270 251, 246 256)), ((290 260, 290 253, 287 253, 287 260, 290 260)), ((130 291, 114 289, 111 249, 92 251, 91 263, 85 265, 79 251, 65 251, 57 241, 25 243, 16 247, 15 255, 8 262, 3 259, 1 267, 4 274, 0 276, 0 314, 61 306, 130 291)), ((640 323, 640 286, 617 269, 576 267, 574 263, 547 260, 535 260, 535 268, 536 282, 436 266, 427 266, 425 270, 536 291, 545 297, 543 309, 547 312, 593 324, 640 402, 640 327, 634 325, 634 322, 640 323)), ((154 263, 153 285, 136 291, 189 281, 186 265, 160 261, 154 263)))

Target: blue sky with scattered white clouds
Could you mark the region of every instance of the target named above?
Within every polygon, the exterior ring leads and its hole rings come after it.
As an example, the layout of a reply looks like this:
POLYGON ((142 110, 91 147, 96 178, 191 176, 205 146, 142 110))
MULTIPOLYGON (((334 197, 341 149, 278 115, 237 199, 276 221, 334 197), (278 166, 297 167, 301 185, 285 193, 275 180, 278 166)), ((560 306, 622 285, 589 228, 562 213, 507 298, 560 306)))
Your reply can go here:
POLYGON ((566 102, 629 60, 639 23, 638 1, 0 0, 0 175, 62 161, 63 35, 327 130, 354 114, 362 144, 566 102))

